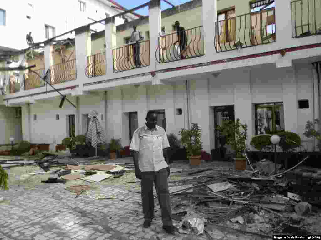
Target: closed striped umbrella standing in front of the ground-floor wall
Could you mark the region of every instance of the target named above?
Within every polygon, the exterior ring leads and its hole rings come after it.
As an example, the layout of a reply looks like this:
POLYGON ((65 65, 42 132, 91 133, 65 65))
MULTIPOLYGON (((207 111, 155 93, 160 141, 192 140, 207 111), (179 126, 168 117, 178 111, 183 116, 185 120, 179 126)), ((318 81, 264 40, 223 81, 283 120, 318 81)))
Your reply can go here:
POLYGON ((94 148, 96 148, 99 143, 106 143, 106 135, 97 116, 98 112, 95 110, 92 110, 90 114, 88 114, 90 122, 87 130, 86 141, 91 142, 91 146, 94 148))

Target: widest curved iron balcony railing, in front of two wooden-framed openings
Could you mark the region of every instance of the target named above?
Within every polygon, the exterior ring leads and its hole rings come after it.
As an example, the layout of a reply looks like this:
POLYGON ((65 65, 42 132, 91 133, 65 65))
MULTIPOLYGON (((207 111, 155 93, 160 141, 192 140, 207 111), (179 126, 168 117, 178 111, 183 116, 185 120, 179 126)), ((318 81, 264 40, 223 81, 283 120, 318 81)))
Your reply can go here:
POLYGON ((216 52, 269 44, 275 41, 274 7, 216 22, 216 52))

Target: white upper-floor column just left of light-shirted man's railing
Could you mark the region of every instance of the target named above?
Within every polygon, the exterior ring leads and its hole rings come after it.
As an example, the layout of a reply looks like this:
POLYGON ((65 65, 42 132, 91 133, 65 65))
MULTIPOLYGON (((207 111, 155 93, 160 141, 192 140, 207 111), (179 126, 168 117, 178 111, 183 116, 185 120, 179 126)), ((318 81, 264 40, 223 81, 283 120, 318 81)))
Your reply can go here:
POLYGON ((111 74, 114 72, 113 48, 117 44, 115 18, 107 19, 105 24, 106 74, 111 74))

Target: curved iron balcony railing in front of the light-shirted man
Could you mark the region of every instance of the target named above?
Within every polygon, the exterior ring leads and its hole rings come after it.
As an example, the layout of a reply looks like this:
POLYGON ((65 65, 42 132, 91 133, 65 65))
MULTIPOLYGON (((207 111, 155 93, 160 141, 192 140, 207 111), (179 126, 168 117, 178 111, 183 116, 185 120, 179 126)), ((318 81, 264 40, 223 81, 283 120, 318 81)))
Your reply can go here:
POLYGON ((114 72, 126 71, 151 64, 149 40, 126 44, 113 49, 114 72), (137 51, 137 54, 136 54, 137 51))

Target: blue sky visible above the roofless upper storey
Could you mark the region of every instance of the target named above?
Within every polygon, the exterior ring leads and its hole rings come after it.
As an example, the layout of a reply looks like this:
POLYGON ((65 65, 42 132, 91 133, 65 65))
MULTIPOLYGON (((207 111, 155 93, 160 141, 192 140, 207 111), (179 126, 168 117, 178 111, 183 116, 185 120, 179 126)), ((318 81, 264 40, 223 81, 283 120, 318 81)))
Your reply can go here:
MULTIPOLYGON (((124 6, 127 9, 132 9, 134 7, 137 7, 139 5, 142 5, 144 3, 149 2, 149 0, 115 0, 117 3, 119 3, 120 5, 124 6)), ((189 2, 191 0, 168 0, 171 4, 177 6, 186 2, 189 2)), ((160 7, 161 10, 165 10, 167 8, 171 8, 172 6, 165 3, 164 1, 160 2, 160 7)), ((147 16, 148 15, 148 6, 135 11, 138 14, 141 14, 143 16, 147 16)))

